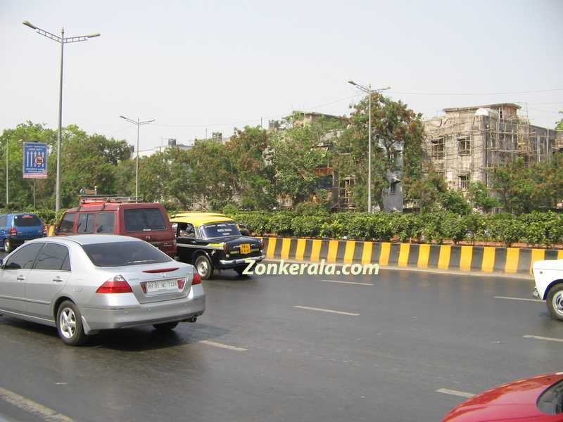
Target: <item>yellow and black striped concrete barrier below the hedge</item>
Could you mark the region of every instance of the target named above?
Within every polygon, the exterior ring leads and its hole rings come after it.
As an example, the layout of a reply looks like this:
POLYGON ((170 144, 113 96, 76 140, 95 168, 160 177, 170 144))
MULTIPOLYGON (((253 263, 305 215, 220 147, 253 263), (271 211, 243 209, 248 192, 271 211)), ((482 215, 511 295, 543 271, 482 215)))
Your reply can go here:
POLYGON ((379 264, 459 271, 529 274, 538 260, 563 260, 563 250, 494 246, 419 245, 304 238, 263 238, 266 259, 379 264))

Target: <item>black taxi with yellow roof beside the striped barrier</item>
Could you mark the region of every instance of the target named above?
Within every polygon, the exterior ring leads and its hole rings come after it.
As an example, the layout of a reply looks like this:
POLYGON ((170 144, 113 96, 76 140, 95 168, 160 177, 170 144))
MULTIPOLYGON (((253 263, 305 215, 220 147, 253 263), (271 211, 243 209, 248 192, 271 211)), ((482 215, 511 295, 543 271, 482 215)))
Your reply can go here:
POLYGON ((196 267, 202 279, 215 269, 234 269, 242 274, 248 260, 264 259, 261 239, 242 236, 239 225, 213 212, 182 212, 170 218, 176 231, 178 259, 196 267))

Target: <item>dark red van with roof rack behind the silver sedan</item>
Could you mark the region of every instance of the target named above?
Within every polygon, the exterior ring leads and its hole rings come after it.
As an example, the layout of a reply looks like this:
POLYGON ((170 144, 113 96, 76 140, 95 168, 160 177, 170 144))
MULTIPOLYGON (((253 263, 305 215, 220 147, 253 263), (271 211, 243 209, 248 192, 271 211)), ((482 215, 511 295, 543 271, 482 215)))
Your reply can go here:
POLYGON ((81 197, 78 207, 65 212, 54 234, 120 234, 147 241, 170 257, 175 257, 177 250, 164 207, 159 203, 136 203, 134 198, 81 197))

